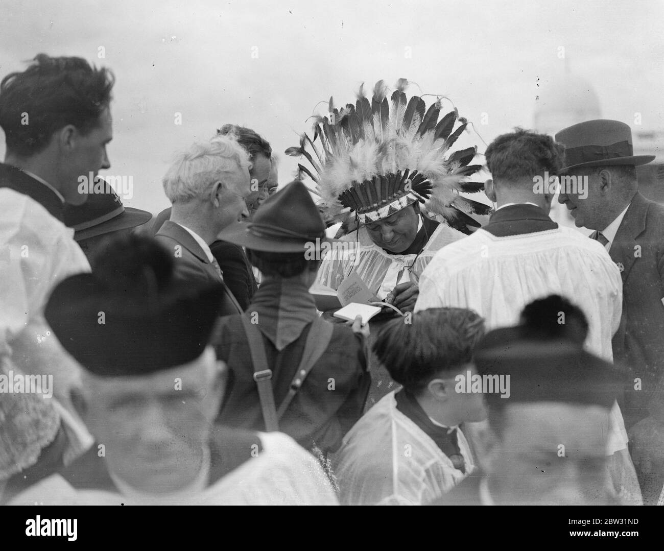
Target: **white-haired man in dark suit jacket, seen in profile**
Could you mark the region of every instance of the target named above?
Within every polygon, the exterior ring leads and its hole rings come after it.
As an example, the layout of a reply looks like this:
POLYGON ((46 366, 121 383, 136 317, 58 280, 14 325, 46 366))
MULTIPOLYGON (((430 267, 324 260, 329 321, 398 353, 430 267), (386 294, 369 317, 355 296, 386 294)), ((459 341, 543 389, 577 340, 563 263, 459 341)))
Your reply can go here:
MULTIPOLYGON (((166 196, 173 204, 171 219, 157 232, 157 241, 175 258, 176 277, 222 281, 210 243, 232 222, 248 216, 249 158, 234 139, 218 136, 195 143, 181 153, 163 177, 166 196)), ((220 315, 242 309, 224 284, 220 315)))

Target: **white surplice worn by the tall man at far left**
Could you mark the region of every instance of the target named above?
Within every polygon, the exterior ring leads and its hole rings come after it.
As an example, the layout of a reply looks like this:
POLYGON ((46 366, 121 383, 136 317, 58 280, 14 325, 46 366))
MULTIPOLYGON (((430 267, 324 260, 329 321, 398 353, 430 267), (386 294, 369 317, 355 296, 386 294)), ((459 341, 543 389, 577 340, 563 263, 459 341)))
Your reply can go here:
POLYGON ((92 437, 70 402, 70 389, 80 384, 80 366, 48 327, 44 306, 57 283, 82 272, 90 272, 90 264, 74 230, 33 198, 0 189, 0 354, 22 373, 53 376, 52 402, 70 442, 67 461, 92 437))

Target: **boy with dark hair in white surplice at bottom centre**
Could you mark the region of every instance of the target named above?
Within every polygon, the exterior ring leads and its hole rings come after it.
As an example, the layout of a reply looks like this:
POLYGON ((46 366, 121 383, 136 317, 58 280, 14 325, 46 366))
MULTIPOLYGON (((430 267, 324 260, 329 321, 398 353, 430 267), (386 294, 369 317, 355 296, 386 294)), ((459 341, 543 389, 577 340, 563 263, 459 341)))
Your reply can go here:
POLYGON ((481 392, 457 389, 475 375, 473 347, 483 334, 481 317, 461 308, 425 310, 378 333, 374 352, 403 388, 376 402, 344 438, 341 503, 424 505, 473 471, 464 424, 486 412, 481 392))

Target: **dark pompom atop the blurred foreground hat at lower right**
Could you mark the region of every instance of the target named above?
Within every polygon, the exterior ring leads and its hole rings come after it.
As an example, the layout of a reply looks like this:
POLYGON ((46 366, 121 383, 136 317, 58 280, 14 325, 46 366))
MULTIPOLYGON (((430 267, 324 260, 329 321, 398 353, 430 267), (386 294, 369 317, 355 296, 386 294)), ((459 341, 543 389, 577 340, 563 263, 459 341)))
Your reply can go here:
POLYGON ((521 331, 527 338, 569 339, 583 345, 588 336, 588 319, 568 299, 549 295, 526 305, 521 312, 521 331))

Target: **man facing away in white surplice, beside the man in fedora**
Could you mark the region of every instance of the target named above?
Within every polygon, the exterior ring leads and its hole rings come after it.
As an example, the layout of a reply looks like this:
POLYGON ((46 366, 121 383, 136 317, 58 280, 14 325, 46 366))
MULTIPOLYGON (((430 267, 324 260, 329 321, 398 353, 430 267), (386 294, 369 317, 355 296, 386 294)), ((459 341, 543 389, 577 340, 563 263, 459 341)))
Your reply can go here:
MULTIPOLYGON (((493 180, 485 193, 497 203, 489 224, 442 248, 420 278, 415 311, 442 305, 470 308, 487 328, 515 325, 523 307, 551 294, 569 297, 588 319, 589 351, 612 360, 620 325, 620 271, 602 245, 548 217, 564 147, 548 135, 516 129, 487 147, 493 180), (543 185, 542 185, 543 183, 543 185)), ((618 404, 612 430, 616 472, 633 472, 618 404)), ((631 478, 631 477, 630 477, 631 478)), ((620 481, 616 486, 620 487, 620 481)))

